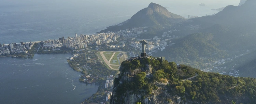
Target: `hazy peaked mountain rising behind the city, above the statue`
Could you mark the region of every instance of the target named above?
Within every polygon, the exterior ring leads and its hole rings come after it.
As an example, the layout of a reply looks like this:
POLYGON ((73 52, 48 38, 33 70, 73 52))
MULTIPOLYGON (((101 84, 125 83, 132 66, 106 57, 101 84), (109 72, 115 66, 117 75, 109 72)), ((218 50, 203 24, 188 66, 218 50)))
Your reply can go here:
POLYGON ((127 28, 133 28, 133 27, 154 27, 157 25, 170 25, 170 19, 186 19, 180 15, 173 14, 169 12, 166 8, 163 6, 156 4, 156 3, 150 3, 147 8, 144 8, 134 14, 131 19, 128 19, 125 24, 122 24, 122 26, 110 26, 105 30, 102 30, 101 32, 106 31, 118 31, 123 30, 127 28))

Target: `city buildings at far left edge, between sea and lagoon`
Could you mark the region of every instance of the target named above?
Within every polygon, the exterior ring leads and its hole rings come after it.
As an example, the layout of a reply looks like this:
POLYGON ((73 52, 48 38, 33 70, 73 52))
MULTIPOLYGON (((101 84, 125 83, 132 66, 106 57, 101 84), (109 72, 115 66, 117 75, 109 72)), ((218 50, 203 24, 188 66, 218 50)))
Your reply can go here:
POLYGON ((16 54, 25 54, 28 53, 28 49, 31 49, 31 47, 34 45, 34 43, 10 43, 10 44, 0 44, 0 56, 8 56, 8 55, 16 55, 16 54))

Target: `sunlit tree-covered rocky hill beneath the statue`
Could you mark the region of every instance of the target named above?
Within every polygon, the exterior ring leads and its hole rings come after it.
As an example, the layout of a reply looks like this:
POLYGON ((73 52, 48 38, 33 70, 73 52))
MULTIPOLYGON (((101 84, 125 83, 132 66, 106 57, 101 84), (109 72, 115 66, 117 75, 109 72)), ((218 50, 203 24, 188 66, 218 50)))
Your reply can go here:
POLYGON ((174 62, 154 57, 136 57, 122 62, 110 104, 256 102, 254 78, 207 73, 185 65, 178 68, 174 62))

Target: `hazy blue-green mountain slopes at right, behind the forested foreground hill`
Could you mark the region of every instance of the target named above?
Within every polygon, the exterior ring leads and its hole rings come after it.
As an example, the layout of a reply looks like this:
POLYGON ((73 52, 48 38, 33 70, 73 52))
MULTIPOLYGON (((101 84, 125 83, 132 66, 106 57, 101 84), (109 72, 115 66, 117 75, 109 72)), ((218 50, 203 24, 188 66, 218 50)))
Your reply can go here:
MULTIPOLYGON (((197 35, 193 32, 188 33, 190 35, 181 34, 185 37, 172 40, 172 43, 175 43, 173 46, 167 46, 153 56, 164 55, 169 61, 197 67, 199 65, 193 64, 193 62, 200 62, 199 59, 202 57, 219 59, 243 54, 247 49, 256 49, 255 10, 256 0, 247 0, 241 6, 229 5, 216 15, 189 19, 191 22, 186 21, 187 23, 184 22, 184 24, 200 25, 200 29, 195 30, 197 35), (205 41, 208 36, 211 36, 212 40, 205 41)), ((183 31, 188 30, 184 29, 183 31)), ((177 34, 175 35, 177 36, 177 34)), ((250 62, 250 60, 245 62, 250 62)), ((245 66, 242 67, 245 68, 245 66)))

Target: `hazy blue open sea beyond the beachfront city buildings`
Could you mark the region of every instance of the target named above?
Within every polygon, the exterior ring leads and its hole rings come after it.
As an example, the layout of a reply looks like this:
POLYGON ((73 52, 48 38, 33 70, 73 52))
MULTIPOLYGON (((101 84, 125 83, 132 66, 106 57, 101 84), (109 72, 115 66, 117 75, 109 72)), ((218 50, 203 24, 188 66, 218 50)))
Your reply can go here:
POLYGON ((75 33, 92 34, 124 21, 123 17, 129 18, 129 15, 100 11, 85 1, 59 1, 60 4, 53 1, 0 6, 0 43, 67 38, 74 37, 75 33))

